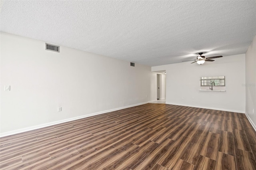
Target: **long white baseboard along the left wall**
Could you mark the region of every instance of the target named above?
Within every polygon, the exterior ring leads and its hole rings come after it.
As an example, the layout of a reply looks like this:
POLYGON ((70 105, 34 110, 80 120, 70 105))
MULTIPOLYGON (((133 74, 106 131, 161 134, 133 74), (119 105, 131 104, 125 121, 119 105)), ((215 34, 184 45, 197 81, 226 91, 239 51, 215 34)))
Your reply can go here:
POLYGON ((44 128, 44 127, 48 127, 48 126, 52 126, 52 125, 57 125, 57 124, 60 124, 60 123, 74 121, 74 120, 77 120, 77 119, 82 119, 82 118, 86 118, 86 117, 90 117, 90 116, 94 116, 94 115, 100 115, 100 114, 108 113, 108 112, 112 112, 112 111, 118 111, 118 110, 126 109, 126 108, 129 108, 129 107, 144 105, 144 104, 149 103, 149 102, 152 102, 152 101, 148 101, 148 102, 144 102, 144 103, 138 103, 138 104, 135 104, 135 105, 129 105, 129 106, 125 106, 125 107, 119 107, 119 108, 116 108, 116 109, 110 109, 110 110, 107 110, 107 111, 101 111, 101 112, 97 112, 97 113, 91 113, 91 114, 88 114, 88 115, 82 115, 82 116, 73 117, 73 118, 70 118, 70 119, 64 119, 64 120, 60 120, 60 121, 45 123, 45 124, 36 125, 36 126, 33 126, 33 127, 21 128, 21 129, 12 130, 12 131, 9 131, 9 132, 3 132, 3 133, 0 133, 0 137, 12 135, 12 134, 17 134, 17 133, 21 133, 21 132, 26 132, 26 131, 29 131, 29 130, 35 130, 35 129, 38 129, 38 128, 44 128))

